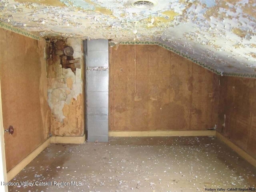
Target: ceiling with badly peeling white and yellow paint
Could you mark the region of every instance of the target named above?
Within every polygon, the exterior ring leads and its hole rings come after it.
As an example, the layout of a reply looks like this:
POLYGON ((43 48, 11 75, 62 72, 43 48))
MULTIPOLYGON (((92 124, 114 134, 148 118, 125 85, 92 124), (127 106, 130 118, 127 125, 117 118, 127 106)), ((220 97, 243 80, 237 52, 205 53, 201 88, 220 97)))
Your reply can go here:
POLYGON ((39 36, 156 41, 220 73, 256 75, 255 0, 0 0, 0 20, 39 36))

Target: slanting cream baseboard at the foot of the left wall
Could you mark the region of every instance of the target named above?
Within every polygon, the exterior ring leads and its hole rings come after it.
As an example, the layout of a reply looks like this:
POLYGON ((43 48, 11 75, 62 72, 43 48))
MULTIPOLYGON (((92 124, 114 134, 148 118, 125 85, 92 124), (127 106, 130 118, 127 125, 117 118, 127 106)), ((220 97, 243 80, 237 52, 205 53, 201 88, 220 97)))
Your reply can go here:
POLYGON ((46 147, 50 145, 50 138, 38 146, 28 156, 26 156, 19 164, 7 172, 8 182, 12 180, 24 167, 26 167, 36 156, 38 156, 46 147))

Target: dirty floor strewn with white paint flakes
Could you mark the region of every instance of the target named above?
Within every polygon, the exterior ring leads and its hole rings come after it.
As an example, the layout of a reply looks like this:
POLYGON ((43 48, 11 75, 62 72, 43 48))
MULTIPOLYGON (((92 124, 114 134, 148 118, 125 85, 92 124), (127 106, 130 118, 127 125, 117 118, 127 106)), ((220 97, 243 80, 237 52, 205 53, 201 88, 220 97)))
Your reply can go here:
POLYGON ((196 192, 256 188, 256 168, 210 137, 110 138, 108 143, 51 144, 12 182, 12 192, 196 192), (62 183, 60 183, 62 184, 62 183))

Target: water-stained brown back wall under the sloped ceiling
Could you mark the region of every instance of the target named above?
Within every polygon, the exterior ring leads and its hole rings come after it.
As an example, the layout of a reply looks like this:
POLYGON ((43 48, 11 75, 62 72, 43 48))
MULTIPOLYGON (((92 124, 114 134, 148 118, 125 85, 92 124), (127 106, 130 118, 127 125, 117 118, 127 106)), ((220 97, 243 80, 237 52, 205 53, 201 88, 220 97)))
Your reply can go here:
POLYGON ((110 48, 110 130, 207 130, 217 124, 219 76, 156 45, 110 48))

